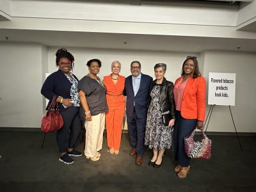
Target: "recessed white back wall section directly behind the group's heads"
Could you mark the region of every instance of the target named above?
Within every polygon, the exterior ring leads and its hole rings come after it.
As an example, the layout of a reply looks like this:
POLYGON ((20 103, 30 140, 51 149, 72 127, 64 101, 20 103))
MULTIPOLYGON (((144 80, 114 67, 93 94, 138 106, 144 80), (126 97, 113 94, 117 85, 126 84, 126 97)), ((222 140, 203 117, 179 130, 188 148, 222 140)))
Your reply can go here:
MULTIPOLYGON (((55 52, 58 47, 49 47, 48 63, 49 72, 57 70, 55 67, 55 52)), ((137 51, 137 50, 118 50, 118 49, 83 49, 68 48, 68 51, 74 55, 75 67, 74 74, 81 79, 88 74, 86 62, 90 59, 97 58, 102 61, 99 77, 107 76, 111 73, 112 61, 118 60, 122 64, 121 74, 125 77, 131 75, 131 61, 138 60, 141 62, 141 72, 154 78, 154 65, 156 63, 166 63, 166 79, 175 81, 180 75, 182 62, 186 56, 197 56, 194 52, 164 52, 164 51, 137 51)))

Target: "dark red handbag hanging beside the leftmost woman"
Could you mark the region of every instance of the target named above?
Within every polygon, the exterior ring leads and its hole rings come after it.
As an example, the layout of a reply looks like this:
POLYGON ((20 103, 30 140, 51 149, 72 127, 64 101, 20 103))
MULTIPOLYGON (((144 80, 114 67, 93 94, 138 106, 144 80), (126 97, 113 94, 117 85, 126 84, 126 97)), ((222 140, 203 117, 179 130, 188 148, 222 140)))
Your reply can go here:
POLYGON ((57 131, 63 127, 63 118, 60 114, 58 104, 56 103, 57 96, 54 95, 52 102, 46 115, 42 119, 41 130, 42 132, 57 131))

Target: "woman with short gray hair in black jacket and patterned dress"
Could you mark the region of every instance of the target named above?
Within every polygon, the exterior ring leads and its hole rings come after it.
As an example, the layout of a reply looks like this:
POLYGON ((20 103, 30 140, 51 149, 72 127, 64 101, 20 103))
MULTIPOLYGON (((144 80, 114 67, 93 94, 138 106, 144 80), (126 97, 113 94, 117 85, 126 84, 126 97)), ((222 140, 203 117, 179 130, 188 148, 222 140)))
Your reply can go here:
POLYGON ((153 148, 149 166, 159 168, 165 148, 172 146, 172 126, 175 122, 173 83, 164 78, 166 64, 157 63, 154 67, 156 79, 150 86, 145 145, 153 148))

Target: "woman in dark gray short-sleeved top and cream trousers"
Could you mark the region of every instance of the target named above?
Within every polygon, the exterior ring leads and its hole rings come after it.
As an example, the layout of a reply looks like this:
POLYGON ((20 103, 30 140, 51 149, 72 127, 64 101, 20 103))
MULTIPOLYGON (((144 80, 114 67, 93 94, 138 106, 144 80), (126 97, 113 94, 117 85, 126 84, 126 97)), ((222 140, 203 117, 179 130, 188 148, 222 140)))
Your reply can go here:
POLYGON ((106 89, 97 76, 101 67, 100 60, 90 60, 86 65, 89 73, 77 85, 82 104, 80 117, 84 120, 86 129, 84 155, 92 161, 98 161, 100 159, 99 150, 102 148, 105 112, 108 111, 108 104, 106 89))

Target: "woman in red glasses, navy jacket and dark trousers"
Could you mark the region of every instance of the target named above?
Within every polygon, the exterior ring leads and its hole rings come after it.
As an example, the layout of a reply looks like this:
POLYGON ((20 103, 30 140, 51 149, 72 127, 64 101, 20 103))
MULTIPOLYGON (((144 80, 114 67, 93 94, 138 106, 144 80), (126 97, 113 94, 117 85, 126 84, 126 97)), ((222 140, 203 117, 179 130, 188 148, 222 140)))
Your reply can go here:
POLYGON ((82 123, 79 119, 80 100, 77 93, 77 77, 72 73, 74 56, 65 48, 56 52, 56 67, 59 69, 45 80, 41 93, 49 99, 46 109, 54 95, 58 96, 56 102, 60 109, 64 125, 57 131, 57 144, 60 150, 59 161, 65 164, 74 163, 70 156, 81 156, 81 152, 74 150, 82 123))

